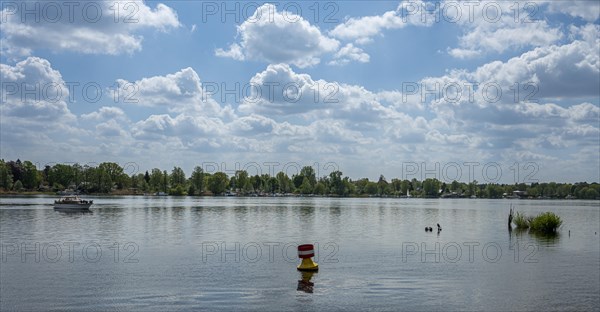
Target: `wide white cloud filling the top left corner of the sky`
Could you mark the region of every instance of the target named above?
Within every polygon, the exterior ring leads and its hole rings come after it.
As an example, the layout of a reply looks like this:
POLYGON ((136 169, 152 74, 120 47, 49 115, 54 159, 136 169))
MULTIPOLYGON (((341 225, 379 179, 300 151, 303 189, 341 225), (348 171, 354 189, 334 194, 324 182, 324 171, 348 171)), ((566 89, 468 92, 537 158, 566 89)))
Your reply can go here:
POLYGON ((30 55, 35 50, 85 54, 134 53, 142 49, 141 29, 167 31, 180 26, 177 13, 159 3, 135 1, 23 1, 3 4, 2 52, 30 55))

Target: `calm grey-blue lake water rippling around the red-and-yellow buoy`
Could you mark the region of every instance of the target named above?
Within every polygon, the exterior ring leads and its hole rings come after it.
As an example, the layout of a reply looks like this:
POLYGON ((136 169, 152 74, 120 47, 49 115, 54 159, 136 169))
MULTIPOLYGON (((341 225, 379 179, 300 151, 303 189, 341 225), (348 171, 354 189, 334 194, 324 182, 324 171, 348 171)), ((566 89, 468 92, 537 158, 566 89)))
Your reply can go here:
POLYGON ((599 201, 53 199, 0 198, 2 311, 600 309, 599 201), (509 231, 511 204, 559 235, 509 231))

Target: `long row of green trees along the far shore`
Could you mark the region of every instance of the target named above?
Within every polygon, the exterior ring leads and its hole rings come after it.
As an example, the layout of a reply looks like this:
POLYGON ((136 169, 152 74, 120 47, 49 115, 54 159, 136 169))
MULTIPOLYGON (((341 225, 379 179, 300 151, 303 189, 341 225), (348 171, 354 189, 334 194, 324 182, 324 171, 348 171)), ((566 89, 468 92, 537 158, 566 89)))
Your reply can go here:
POLYGON ((3 192, 58 192, 71 190, 84 194, 142 194, 169 195, 267 195, 302 194, 325 196, 412 196, 412 197, 479 197, 479 198, 579 198, 598 199, 600 184, 518 183, 481 184, 477 181, 445 183, 435 178, 424 181, 367 178, 352 180, 340 171, 317 177, 311 166, 303 167, 289 177, 284 172, 275 176, 249 175, 244 170, 228 176, 223 172, 206 173, 195 167, 186 174, 180 167, 171 172, 154 168, 145 173, 128 175, 117 163, 104 162, 98 166, 55 164, 42 170, 30 161, 0 160, 0 190, 3 192))

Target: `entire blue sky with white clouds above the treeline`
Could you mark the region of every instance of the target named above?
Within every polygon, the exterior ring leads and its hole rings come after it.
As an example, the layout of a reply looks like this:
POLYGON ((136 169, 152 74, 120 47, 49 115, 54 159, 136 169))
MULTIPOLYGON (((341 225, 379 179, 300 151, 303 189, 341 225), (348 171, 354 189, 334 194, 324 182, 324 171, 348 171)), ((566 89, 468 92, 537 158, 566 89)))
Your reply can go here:
POLYGON ((0 158, 600 179, 596 1, 69 8, 2 1, 0 158))

